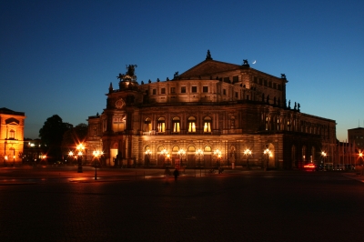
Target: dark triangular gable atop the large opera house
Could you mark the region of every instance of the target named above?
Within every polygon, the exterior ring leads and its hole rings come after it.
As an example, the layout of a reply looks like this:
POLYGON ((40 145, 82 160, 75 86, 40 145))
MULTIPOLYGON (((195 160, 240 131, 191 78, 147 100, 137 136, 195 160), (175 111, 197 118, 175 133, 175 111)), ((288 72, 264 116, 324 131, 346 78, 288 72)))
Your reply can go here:
POLYGON ((218 76, 218 73, 224 73, 239 69, 240 66, 215 60, 205 60, 197 66, 193 66, 178 77, 180 78, 198 78, 199 76, 218 76))

